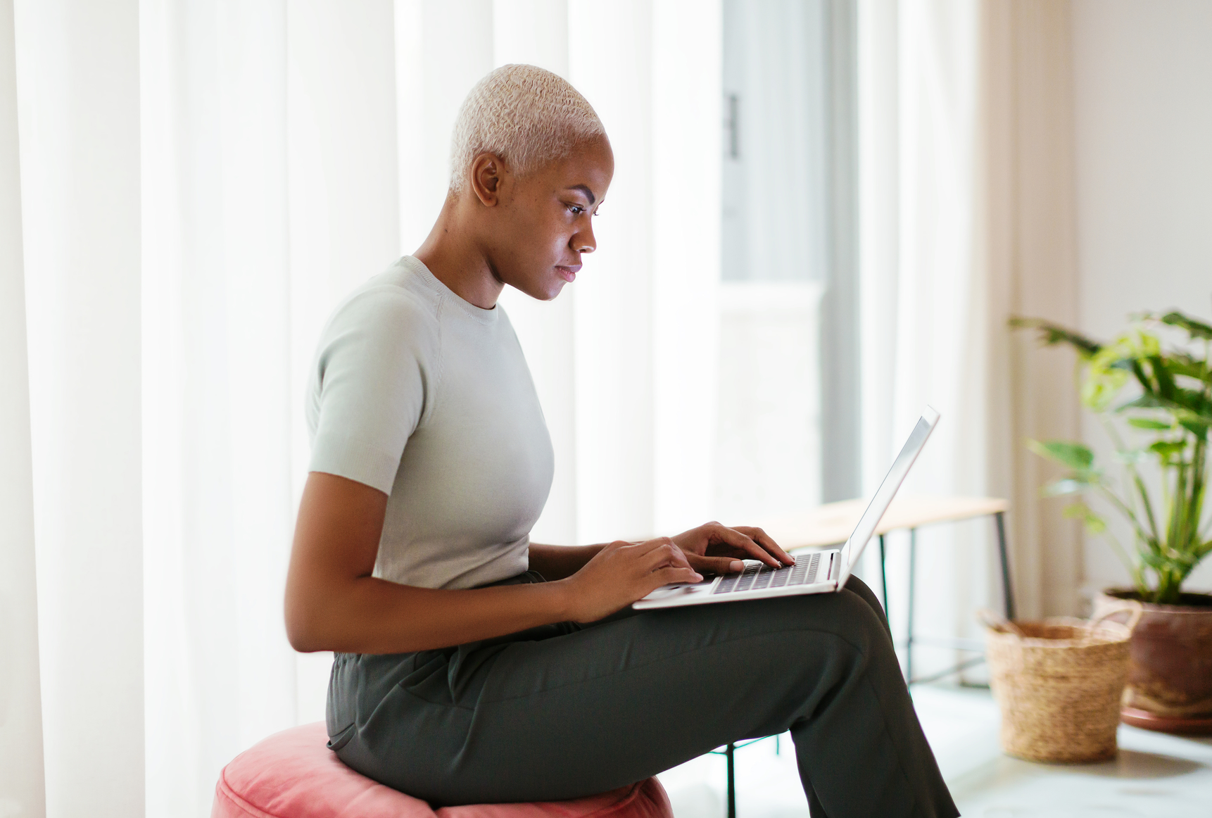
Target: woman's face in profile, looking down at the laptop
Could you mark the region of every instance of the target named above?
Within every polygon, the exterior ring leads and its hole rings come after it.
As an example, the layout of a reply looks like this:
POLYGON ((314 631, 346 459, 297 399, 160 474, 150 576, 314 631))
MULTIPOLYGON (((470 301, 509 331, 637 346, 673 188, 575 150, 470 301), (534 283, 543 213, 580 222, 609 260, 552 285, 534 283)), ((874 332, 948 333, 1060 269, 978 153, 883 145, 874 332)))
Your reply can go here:
POLYGON ((582 254, 598 247, 593 218, 613 175, 606 137, 527 176, 507 175, 487 253, 493 275, 542 301, 559 296, 577 278, 582 254))

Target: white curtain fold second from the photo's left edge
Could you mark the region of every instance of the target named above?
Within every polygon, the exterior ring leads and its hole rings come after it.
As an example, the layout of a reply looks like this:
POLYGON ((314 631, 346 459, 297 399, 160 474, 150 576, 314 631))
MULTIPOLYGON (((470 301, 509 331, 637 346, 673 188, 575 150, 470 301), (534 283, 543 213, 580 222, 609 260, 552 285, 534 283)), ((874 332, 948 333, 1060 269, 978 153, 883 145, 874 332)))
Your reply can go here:
POLYGON ((139 17, 18 0, 46 811, 143 814, 139 17))

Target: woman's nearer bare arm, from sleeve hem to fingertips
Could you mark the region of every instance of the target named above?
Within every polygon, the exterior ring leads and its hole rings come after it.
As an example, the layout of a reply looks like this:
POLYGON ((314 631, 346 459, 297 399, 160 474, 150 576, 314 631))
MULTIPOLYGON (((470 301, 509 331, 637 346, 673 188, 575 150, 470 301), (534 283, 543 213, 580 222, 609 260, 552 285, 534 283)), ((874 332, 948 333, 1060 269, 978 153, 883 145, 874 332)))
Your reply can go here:
MULTIPOLYGON (((673 582, 702 579, 669 538, 610 543, 567 579, 476 590, 400 585, 371 576, 387 494, 308 475, 286 576, 286 635, 297 651, 404 653, 553 622, 593 622, 673 582)), ((579 550, 579 549, 577 549, 579 550)))

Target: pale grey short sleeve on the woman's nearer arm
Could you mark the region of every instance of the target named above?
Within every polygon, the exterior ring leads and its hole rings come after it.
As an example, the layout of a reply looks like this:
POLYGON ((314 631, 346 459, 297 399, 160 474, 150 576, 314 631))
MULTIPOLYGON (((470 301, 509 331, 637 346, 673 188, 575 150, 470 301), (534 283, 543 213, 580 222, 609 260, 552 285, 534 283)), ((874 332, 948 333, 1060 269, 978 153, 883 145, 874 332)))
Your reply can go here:
POLYGON ((408 436, 425 411, 436 322, 407 291, 358 293, 332 316, 308 390, 310 471, 390 494, 408 436))

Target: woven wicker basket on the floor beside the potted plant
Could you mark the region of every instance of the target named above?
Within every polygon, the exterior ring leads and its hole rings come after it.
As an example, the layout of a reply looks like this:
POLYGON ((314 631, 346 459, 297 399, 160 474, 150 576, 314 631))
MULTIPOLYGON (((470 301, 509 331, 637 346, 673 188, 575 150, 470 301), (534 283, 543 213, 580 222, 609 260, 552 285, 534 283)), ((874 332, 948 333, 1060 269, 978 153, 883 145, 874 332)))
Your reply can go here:
POLYGON ((990 687, 1001 708, 1001 749, 1028 761, 1076 763, 1115 757, 1128 639, 1139 604, 1098 619, 1008 623, 982 612, 988 627, 990 687), (1104 622, 1124 610, 1128 624, 1104 622))

